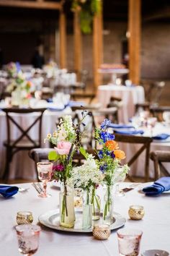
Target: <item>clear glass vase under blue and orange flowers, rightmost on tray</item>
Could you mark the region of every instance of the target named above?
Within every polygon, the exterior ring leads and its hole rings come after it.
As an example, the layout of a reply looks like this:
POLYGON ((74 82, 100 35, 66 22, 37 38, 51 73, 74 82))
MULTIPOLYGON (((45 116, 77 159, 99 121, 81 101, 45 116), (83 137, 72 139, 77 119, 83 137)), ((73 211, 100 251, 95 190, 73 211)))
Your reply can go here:
POLYGON ((107 186, 104 194, 103 221, 108 225, 112 224, 113 222, 112 186, 107 186))

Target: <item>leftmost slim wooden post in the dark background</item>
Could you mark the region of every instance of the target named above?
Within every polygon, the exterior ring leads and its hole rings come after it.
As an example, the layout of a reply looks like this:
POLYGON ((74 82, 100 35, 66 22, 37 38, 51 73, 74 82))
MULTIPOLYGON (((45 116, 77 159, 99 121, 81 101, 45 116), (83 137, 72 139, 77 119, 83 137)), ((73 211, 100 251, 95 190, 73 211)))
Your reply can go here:
POLYGON ((63 11, 60 12, 60 67, 66 68, 66 16, 63 11))

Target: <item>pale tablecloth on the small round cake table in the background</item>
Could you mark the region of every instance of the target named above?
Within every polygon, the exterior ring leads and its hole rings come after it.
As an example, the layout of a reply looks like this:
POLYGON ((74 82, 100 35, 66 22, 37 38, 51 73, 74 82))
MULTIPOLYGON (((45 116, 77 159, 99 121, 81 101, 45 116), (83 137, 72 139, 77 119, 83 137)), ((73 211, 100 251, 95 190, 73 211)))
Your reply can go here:
POLYGON ((134 116, 136 103, 143 103, 145 101, 142 86, 100 85, 98 87, 97 97, 103 107, 107 106, 112 96, 122 99, 123 106, 118 111, 119 121, 122 123, 127 123, 134 116))

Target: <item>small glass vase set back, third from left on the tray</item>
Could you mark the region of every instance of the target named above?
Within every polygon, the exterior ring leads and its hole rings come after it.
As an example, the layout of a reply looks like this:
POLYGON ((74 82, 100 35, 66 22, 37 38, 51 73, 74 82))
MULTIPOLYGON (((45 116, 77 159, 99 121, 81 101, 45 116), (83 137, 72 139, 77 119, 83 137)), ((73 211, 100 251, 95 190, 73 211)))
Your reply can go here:
POLYGON ((100 197, 96 194, 96 188, 94 187, 91 195, 92 205, 92 220, 97 221, 100 218, 100 197))

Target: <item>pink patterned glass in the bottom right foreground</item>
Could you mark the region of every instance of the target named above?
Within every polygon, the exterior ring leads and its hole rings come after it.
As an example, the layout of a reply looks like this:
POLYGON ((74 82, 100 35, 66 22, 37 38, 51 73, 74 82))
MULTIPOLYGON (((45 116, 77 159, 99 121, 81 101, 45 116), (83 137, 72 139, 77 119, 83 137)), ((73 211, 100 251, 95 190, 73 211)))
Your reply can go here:
POLYGON ((143 232, 135 229, 119 229, 117 231, 119 255, 139 255, 140 240, 143 232))

